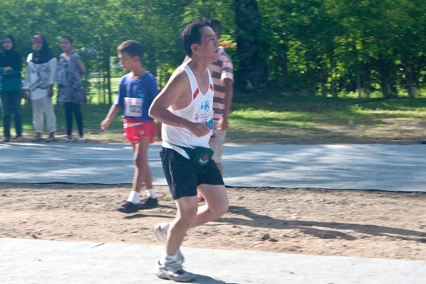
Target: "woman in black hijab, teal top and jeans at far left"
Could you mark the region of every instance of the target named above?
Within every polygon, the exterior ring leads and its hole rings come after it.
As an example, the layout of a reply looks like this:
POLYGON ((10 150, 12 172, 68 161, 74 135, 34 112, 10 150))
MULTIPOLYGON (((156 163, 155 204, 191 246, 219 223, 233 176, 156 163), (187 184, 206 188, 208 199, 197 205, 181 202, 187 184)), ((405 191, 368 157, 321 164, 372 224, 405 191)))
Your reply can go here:
POLYGON ((3 106, 4 138, 0 143, 11 140, 11 116, 15 116, 16 140, 22 141, 21 114, 21 69, 22 58, 15 51, 15 39, 12 35, 3 38, 3 52, 0 54, 0 97, 3 106))

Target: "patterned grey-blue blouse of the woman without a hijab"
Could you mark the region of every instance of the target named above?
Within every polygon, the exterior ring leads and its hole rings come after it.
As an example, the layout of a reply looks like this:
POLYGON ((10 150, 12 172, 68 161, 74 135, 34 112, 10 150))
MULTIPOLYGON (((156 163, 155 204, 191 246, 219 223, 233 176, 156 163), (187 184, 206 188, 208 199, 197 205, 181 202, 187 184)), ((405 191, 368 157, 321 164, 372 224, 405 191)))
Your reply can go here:
POLYGON ((80 79, 80 69, 77 60, 80 55, 71 53, 65 58, 65 53, 59 57, 58 65, 58 102, 71 102, 72 92, 80 91, 82 82, 80 79))

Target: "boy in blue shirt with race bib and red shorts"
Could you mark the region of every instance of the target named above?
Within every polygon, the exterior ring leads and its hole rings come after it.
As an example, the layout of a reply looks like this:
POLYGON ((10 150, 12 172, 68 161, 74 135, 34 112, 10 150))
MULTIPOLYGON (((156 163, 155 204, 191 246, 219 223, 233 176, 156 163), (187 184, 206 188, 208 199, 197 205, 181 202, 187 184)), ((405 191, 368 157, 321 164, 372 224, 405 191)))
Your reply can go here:
POLYGON ((155 138, 155 124, 153 118, 148 115, 148 109, 158 94, 158 88, 155 77, 143 69, 143 49, 140 43, 127 40, 119 45, 117 53, 120 65, 130 72, 121 77, 116 100, 102 121, 101 129, 107 130, 120 109, 123 109, 124 114, 121 117, 124 118, 124 136, 133 147, 135 174, 129 198, 117 210, 129 214, 137 212, 138 209, 158 206, 148 165, 148 146, 155 138), (143 183, 146 185, 147 197, 138 204, 143 183))

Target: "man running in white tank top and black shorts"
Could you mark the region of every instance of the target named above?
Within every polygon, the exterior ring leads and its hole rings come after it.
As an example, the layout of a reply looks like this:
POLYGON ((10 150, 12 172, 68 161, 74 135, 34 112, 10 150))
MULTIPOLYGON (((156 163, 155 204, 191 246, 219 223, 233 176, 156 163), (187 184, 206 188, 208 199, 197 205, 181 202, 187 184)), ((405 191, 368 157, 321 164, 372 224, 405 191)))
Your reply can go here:
POLYGON ((187 25, 180 34, 190 60, 178 67, 158 94, 149 115, 163 124, 160 158, 178 212, 173 222, 154 227, 165 252, 158 260, 159 278, 188 282, 193 273, 182 268, 180 245, 188 229, 222 217, 229 206, 224 180, 212 160, 214 87, 209 66, 219 58, 219 42, 209 21, 187 25), (206 204, 198 207, 197 190, 206 204))

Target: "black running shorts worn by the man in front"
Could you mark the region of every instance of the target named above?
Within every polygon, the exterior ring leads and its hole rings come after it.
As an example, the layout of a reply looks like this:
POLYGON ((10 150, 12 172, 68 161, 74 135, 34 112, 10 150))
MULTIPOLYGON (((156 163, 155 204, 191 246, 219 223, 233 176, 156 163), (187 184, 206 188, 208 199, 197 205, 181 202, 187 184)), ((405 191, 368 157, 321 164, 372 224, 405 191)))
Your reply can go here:
POLYGON ((160 158, 174 200, 196 196, 198 185, 224 185, 214 160, 200 167, 173 149, 164 147, 161 147, 160 158))

